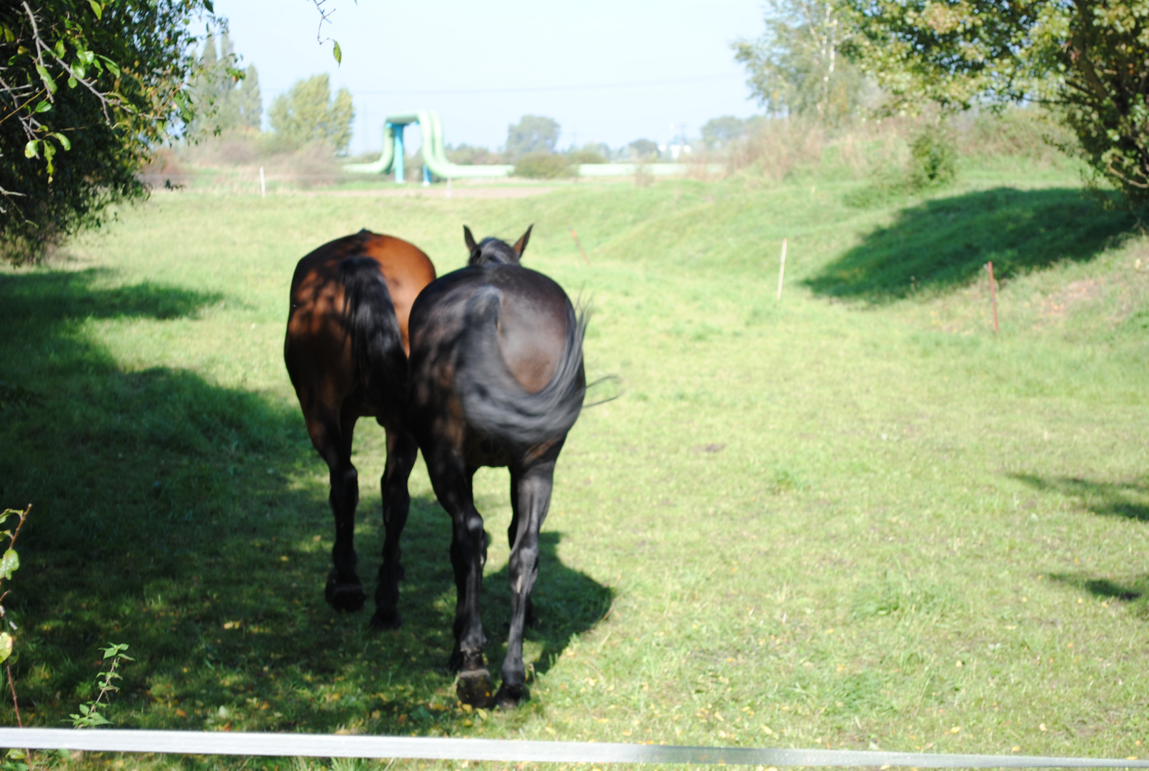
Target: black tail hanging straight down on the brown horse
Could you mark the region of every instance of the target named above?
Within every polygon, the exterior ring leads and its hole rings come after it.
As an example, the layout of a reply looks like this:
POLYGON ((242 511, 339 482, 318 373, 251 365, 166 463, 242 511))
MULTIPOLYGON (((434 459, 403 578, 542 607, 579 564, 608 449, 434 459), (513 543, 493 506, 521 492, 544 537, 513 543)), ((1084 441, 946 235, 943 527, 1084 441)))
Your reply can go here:
POLYGON ((352 339, 358 381, 391 403, 403 403, 407 354, 379 263, 370 257, 348 257, 339 263, 339 278, 344 285, 344 325, 352 339))

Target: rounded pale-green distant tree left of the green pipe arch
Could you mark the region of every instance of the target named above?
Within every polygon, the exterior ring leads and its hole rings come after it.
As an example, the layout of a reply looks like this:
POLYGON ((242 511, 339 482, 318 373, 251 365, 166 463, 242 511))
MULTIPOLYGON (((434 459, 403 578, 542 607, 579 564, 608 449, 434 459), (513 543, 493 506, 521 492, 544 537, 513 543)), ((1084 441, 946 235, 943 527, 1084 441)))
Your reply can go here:
POLYGON ((347 88, 340 88, 332 99, 326 74, 314 75, 276 97, 268 118, 271 130, 291 141, 323 141, 336 153, 345 153, 352 139, 355 107, 347 88))

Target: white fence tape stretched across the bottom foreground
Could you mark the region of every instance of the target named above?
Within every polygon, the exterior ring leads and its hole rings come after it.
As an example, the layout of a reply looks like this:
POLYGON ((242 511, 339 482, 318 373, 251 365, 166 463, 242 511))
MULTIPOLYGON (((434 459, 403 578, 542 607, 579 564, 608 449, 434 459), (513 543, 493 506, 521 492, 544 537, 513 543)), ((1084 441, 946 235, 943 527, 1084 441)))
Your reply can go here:
POLYGON ((514 741, 431 737, 341 737, 75 728, 0 728, 0 747, 175 755, 371 757, 510 763, 693 763, 697 765, 912 766, 918 769, 1149 769, 1136 758, 944 755, 847 749, 678 747, 585 741, 514 741))

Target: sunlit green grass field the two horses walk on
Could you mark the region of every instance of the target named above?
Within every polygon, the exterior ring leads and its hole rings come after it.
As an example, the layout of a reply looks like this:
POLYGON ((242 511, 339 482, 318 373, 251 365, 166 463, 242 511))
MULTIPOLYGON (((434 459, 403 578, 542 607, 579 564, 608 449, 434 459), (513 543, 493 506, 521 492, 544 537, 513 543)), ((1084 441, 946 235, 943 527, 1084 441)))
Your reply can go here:
MULTIPOLYGON (((507 200, 192 190, 0 272, 0 502, 36 507, 9 601, 25 723, 61 725, 113 641, 138 658, 121 726, 1144 756, 1149 241, 1075 179, 966 162, 955 187, 870 203, 813 171, 507 200), (464 711, 422 463, 403 629, 323 602, 326 468, 282 363, 287 287, 363 226, 444 272, 463 223, 532 222, 525 262, 592 301, 588 375, 619 398, 560 460, 533 697, 464 711)), ((361 423, 364 579, 383 452, 361 423)), ((493 640, 507 487, 477 477, 493 640)), ((71 762, 105 764, 240 762, 71 762)), ((414 766, 457 764, 395 764, 414 766)))

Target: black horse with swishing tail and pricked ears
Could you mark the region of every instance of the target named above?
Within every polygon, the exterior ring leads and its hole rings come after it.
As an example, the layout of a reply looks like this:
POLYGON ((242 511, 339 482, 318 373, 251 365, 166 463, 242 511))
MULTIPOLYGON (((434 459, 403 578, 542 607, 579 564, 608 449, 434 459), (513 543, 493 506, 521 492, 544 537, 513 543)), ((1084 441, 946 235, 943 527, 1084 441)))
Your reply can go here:
POLYGON ((479 592, 487 555, 471 480, 481 465, 510 470, 511 620, 500 707, 527 696, 523 627, 533 624, 531 588, 539 570, 539 529, 550 506, 555 461, 583 409, 585 318, 563 290, 518 264, 531 236, 515 246, 494 238, 470 249, 468 267, 423 290, 410 316, 408 419, 435 496, 450 515, 455 569, 458 697, 492 701, 479 592))

